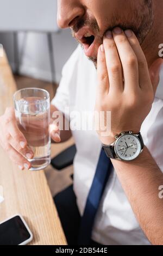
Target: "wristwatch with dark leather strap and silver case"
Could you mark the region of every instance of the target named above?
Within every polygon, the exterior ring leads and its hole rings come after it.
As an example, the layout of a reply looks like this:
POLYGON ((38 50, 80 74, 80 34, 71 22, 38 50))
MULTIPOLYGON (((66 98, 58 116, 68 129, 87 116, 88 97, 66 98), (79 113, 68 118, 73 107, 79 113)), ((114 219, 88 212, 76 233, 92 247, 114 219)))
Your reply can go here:
POLYGON ((111 159, 131 161, 136 159, 144 148, 141 133, 134 134, 132 131, 121 132, 115 136, 111 145, 102 144, 106 156, 111 159))

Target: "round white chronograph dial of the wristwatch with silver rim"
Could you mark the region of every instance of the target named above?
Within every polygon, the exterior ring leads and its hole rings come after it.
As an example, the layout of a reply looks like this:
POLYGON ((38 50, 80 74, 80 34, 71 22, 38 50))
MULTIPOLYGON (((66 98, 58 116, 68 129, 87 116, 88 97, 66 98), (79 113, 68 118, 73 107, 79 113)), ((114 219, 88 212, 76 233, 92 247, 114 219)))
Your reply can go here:
POLYGON ((122 160, 134 160, 141 153, 140 140, 135 135, 122 135, 116 141, 115 151, 122 160))

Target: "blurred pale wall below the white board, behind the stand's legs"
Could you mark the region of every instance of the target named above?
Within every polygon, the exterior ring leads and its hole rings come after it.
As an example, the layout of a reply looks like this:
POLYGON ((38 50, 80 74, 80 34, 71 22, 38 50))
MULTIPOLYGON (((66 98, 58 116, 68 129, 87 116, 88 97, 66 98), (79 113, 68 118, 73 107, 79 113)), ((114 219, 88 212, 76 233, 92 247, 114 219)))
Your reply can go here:
MULTIPOLYGON (((12 33, 1 33, 0 44, 3 44, 7 52, 8 59, 12 69, 14 63, 14 47, 12 33)), ((22 47, 24 48, 22 63, 20 64, 20 73, 23 75, 40 78, 51 81, 51 68, 49 64, 49 52, 47 37, 42 33, 24 33, 18 35, 18 45, 20 55, 22 47)), ((68 57, 77 47, 76 41, 72 38, 69 29, 62 30, 59 34, 53 35, 54 60, 57 82, 60 81, 61 69, 68 57)))

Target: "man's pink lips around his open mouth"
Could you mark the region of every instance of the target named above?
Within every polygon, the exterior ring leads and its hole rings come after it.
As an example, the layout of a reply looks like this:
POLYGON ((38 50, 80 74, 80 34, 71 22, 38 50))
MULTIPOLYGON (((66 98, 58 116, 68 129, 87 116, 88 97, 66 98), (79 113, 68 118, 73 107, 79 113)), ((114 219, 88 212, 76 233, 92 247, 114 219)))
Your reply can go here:
POLYGON ((83 45, 85 55, 87 57, 92 57, 93 53, 95 52, 96 36, 91 45, 86 44, 84 35, 88 32, 91 35, 95 36, 95 33, 89 27, 83 27, 83 28, 79 29, 79 31, 77 33, 75 33, 75 36, 76 36, 77 40, 80 42, 80 44, 83 45))

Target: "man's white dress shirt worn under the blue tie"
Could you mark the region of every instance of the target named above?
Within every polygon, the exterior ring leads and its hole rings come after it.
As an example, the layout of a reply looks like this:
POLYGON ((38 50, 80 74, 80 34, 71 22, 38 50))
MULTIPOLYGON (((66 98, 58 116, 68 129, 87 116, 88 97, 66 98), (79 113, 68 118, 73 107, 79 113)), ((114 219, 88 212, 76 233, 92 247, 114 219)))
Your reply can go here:
MULTIPOLYGON (((163 170, 163 89, 161 89, 161 83, 163 86, 163 81, 160 81, 151 112, 142 124, 141 133, 145 145, 160 169, 163 170)), ((96 88, 95 66, 78 46, 62 70, 60 86, 52 104, 61 112, 65 111, 65 107, 80 112, 93 111, 96 88)), ((73 189, 77 196, 80 214, 83 214, 101 152, 101 141, 96 131, 73 131, 72 133, 77 146, 73 189)), ((152 204, 152 202, 149 203, 152 204)), ((92 239, 103 245, 150 245, 136 220, 115 170, 106 184, 95 218, 92 239)))

